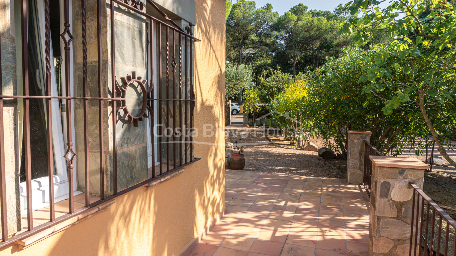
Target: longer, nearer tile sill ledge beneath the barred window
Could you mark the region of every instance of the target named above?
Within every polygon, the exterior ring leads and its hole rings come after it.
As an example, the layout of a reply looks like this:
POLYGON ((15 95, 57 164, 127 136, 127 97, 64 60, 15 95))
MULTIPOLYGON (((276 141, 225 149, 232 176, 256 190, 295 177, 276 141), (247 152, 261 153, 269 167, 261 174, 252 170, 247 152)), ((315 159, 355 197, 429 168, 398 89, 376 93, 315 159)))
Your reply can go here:
POLYGON ((36 233, 33 236, 26 237, 22 240, 16 241, 16 246, 18 250, 25 249, 43 239, 46 239, 49 236, 52 236, 54 234, 57 234, 60 231, 63 231, 69 227, 71 227, 74 224, 77 224, 83 220, 86 220, 87 218, 96 215, 104 210, 107 210, 111 207, 112 204, 115 203, 115 199, 106 201, 104 203, 101 203, 99 205, 96 205, 92 207, 90 210, 84 211, 79 215, 73 216, 72 218, 68 220, 64 220, 61 223, 58 223, 56 225, 53 225, 39 233, 36 233))

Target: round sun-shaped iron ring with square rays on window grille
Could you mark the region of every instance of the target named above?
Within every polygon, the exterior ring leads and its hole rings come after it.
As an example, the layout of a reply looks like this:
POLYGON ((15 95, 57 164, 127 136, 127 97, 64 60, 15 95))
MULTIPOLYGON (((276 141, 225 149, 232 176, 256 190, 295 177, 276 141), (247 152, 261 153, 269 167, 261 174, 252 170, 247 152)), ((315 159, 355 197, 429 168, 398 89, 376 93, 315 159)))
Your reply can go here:
POLYGON ((120 89, 120 93, 121 93, 120 101, 122 102, 122 104, 118 108, 117 111, 122 109, 124 111, 124 115, 120 119, 127 120, 128 123, 133 123, 134 126, 138 126, 138 121, 143 121, 143 118, 147 118, 146 110, 147 110, 147 108, 149 108, 147 101, 149 100, 150 90, 147 90, 145 87, 147 80, 145 80, 145 79, 141 80, 141 79, 142 79, 142 77, 136 77, 135 71, 131 72, 131 76, 127 75, 126 77, 120 78, 120 81, 122 81, 122 85, 119 86, 119 89, 120 89), (132 84, 134 82, 136 82, 139 85, 139 87, 141 88, 142 95, 143 95, 141 111, 136 116, 133 116, 130 113, 129 109, 127 108, 127 102, 126 102, 126 98, 125 98, 128 87, 130 86, 130 84, 132 84))

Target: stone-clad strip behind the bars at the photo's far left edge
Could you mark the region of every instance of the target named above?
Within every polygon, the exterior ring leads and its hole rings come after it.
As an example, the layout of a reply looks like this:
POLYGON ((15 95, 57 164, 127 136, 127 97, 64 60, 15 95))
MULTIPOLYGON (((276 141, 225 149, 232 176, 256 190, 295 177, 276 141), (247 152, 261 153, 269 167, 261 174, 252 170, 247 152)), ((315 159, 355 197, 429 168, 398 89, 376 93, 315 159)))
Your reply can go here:
MULTIPOLYGON (((3 95, 22 95, 21 12, 20 1, 0 0, 1 80, 3 95), (19 40, 18 40, 19 38, 19 40)), ((22 100, 4 99, 3 139, 5 153, 6 215, 8 235, 21 230, 21 191, 19 172, 21 158, 19 145, 18 104, 22 100)), ((0 195, 1 196, 1 195, 0 195)), ((0 225, 1 228, 1 225, 0 225)))

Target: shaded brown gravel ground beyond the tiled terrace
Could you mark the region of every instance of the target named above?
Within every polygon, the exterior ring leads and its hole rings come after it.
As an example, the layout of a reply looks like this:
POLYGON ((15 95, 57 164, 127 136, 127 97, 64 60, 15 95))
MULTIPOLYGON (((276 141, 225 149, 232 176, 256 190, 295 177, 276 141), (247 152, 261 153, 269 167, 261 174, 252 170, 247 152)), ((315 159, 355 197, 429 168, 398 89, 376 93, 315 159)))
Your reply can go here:
POLYGON ((227 127, 227 141, 243 146, 246 171, 339 178, 316 152, 275 147, 261 128, 227 127))

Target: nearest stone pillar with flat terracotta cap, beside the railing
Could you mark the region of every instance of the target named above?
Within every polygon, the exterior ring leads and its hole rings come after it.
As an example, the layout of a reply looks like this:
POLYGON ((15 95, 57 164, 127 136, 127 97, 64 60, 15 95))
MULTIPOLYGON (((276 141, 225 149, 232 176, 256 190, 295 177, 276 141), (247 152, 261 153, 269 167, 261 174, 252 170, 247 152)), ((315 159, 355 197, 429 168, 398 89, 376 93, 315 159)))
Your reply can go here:
POLYGON ((370 156, 373 163, 369 256, 408 255, 413 188, 429 166, 416 158, 370 156), (406 254, 404 254, 406 252, 406 254))

